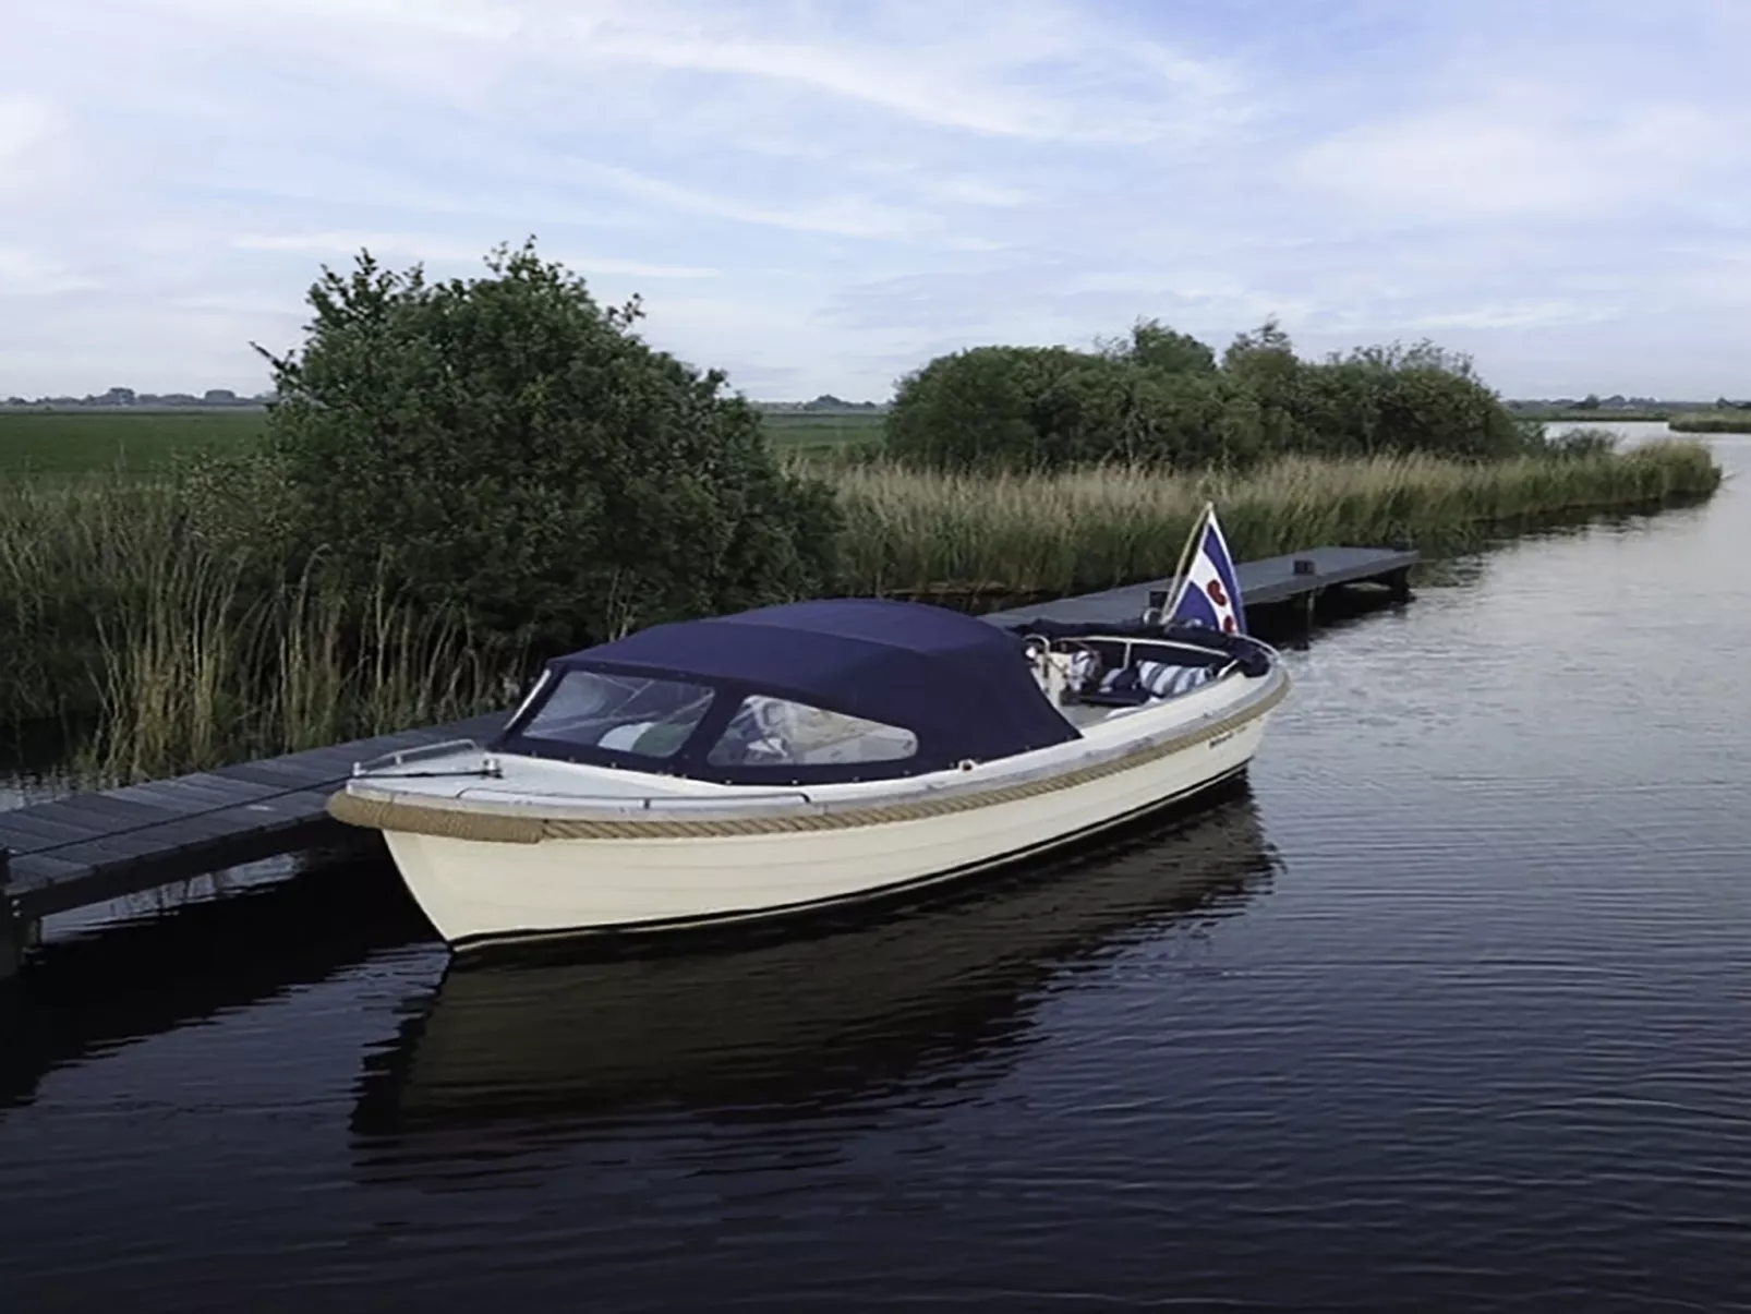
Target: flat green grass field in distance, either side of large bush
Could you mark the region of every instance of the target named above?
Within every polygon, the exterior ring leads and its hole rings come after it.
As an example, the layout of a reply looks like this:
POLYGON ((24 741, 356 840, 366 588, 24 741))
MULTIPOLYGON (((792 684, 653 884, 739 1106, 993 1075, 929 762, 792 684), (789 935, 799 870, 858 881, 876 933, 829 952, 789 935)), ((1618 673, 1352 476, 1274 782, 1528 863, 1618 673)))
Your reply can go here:
MULTIPOLYGON (((236 449, 261 436, 259 410, 4 410, 0 477, 151 475, 179 454, 236 449)), ((779 412, 767 436, 784 450, 826 450, 881 440, 881 415, 779 412)))

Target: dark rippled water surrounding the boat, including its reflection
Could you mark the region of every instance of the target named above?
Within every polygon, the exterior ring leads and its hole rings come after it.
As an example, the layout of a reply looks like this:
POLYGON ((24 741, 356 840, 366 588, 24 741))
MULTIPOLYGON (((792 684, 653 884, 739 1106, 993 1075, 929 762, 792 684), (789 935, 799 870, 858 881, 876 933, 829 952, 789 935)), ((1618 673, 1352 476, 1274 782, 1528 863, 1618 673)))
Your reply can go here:
POLYGON ((63 934, 0 1309, 1751 1309, 1747 554, 1737 485, 1497 550, 1294 653, 1250 792, 884 927, 63 934))

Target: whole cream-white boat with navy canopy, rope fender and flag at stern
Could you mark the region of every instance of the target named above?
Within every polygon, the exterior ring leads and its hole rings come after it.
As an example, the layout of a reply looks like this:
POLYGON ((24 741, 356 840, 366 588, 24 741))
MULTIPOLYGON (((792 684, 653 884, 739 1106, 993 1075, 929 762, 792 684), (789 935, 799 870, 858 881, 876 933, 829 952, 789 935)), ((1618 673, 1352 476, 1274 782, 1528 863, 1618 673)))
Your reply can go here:
POLYGON ((832 597, 557 657, 487 743, 359 764, 454 951, 793 920, 1059 850, 1243 773, 1289 690, 1206 506, 1114 624, 832 597))

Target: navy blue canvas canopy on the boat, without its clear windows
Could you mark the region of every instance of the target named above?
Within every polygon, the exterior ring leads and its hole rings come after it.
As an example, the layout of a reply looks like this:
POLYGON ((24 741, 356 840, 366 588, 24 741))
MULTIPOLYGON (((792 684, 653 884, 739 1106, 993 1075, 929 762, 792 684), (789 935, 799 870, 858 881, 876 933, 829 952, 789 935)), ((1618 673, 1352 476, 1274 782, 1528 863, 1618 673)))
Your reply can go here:
POLYGON ((525 736, 524 727, 541 713, 539 694, 494 748, 704 780, 828 781, 942 771, 1077 738, 1035 683, 1017 636, 923 603, 833 597, 651 625, 559 657, 548 671, 546 696, 567 671, 599 671, 709 687, 716 697, 660 767, 594 743, 525 736), (748 694, 900 727, 916 734, 918 750, 858 769, 713 767, 706 755, 748 694))

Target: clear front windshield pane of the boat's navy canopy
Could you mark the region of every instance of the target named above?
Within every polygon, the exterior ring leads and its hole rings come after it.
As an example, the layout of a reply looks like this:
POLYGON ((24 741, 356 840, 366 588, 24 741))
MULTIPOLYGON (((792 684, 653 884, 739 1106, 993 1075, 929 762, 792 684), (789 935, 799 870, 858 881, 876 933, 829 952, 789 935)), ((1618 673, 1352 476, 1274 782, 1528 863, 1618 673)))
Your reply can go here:
POLYGON ((667 759, 686 743, 711 697, 706 685, 679 680, 567 671, 522 734, 667 759))

